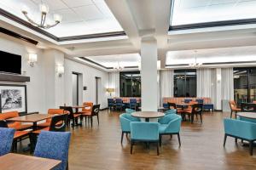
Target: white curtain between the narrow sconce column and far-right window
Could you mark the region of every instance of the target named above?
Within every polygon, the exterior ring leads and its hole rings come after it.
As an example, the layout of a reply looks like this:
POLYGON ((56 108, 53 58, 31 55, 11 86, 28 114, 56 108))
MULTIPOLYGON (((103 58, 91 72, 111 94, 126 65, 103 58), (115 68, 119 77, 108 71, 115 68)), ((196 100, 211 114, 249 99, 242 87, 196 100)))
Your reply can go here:
POLYGON ((221 69, 221 99, 234 99, 233 68, 221 69))

